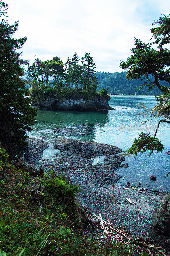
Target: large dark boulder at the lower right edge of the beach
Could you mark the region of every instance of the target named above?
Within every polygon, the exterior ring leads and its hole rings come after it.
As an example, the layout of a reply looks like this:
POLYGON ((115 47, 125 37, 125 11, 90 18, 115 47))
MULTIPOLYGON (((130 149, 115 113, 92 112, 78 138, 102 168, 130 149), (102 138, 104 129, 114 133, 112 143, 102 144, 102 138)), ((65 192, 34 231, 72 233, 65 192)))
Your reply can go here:
POLYGON ((157 244, 170 251, 170 192, 156 207, 148 233, 157 244))

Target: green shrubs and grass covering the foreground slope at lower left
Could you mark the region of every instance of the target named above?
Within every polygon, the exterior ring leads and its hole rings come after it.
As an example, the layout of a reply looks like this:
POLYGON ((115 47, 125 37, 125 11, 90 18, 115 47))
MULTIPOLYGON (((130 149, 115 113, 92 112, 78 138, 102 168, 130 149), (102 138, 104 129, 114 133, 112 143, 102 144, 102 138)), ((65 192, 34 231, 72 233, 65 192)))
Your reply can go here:
POLYGON ((7 159, 0 149, 0 255, 128 256, 122 244, 82 234, 78 186, 53 170, 32 180, 7 159))

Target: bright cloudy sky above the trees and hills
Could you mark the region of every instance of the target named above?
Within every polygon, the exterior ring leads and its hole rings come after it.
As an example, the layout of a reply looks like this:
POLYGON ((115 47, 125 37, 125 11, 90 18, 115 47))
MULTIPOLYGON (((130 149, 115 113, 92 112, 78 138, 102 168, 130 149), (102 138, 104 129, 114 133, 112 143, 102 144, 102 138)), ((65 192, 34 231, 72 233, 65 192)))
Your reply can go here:
POLYGON ((170 13, 169 0, 6 0, 16 38, 28 39, 23 59, 34 62, 58 56, 64 62, 77 52, 93 56, 96 71, 120 72, 134 37, 148 43, 152 23, 170 13))

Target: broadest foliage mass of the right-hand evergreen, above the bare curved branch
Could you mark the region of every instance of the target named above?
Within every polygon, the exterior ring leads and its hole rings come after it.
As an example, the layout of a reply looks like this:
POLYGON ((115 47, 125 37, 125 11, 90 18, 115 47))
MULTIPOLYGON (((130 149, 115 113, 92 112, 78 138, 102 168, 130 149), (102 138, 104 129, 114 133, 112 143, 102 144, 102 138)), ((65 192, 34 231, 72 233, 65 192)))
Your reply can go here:
POLYGON ((127 61, 120 60, 120 68, 129 69, 127 79, 143 80, 143 86, 157 86, 161 90, 159 80, 169 80, 170 73, 167 69, 170 66, 170 51, 161 48, 155 50, 151 44, 145 44, 135 38, 135 47, 131 49, 133 53, 127 61), (152 81, 149 79, 152 76, 152 81))

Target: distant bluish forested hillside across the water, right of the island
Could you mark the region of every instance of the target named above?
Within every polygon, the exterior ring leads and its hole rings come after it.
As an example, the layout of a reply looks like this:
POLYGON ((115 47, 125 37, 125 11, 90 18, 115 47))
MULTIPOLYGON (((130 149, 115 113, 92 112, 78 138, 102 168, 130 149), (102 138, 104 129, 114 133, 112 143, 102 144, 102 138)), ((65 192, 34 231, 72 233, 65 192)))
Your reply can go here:
MULTIPOLYGON (((158 95, 161 93, 157 86, 154 86, 152 91, 146 86, 138 90, 142 82, 126 79, 126 72, 107 73, 97 71, 95 75, 98 78, 98 90, 104 87, 108 90, 108 94, 158 95)), ((153 80, 152 77, 150 77, 150 80, 153 80)), ((160 84, 167 85, 163 81, 160 84)))

